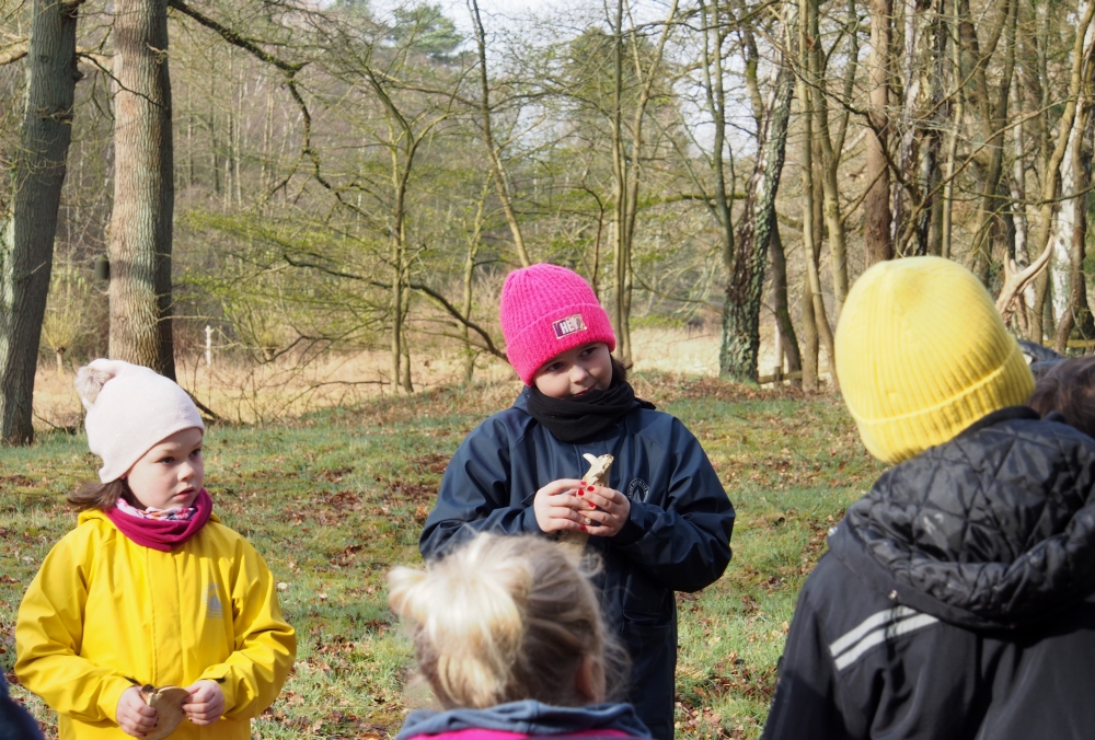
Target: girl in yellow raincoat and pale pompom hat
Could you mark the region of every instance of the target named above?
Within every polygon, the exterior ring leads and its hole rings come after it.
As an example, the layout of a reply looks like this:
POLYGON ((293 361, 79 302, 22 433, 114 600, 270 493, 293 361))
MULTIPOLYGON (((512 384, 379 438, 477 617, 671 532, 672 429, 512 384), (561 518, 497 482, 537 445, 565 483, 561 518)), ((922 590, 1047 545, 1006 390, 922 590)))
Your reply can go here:
POLYGON ((91 362, 77 389, 102 483, 69 497, 79 525, 27 588, 15 674, 57 710, 61 740, 154 732, 145 684, 186 690, 172 740, 245 740, 297 644, 263 558, 211 511, 201 417, 128 362, 91 362))

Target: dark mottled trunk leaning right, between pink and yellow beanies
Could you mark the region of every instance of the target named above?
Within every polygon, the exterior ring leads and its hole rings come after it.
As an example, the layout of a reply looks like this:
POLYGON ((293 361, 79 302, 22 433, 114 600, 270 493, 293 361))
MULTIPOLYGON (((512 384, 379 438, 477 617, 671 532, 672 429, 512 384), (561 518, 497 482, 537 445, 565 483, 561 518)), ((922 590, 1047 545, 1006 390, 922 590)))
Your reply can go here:
POLYGON ((757 382, 764 258, 775 223, 775 194, 786 153, 793 91, 794 76, 789 66, 784 63, 773 85, 773 100, 768 106, 764 128, 758 136, 757 164, 738 221, 734 265, 723 304, 719 375, 750 383, 757 382))

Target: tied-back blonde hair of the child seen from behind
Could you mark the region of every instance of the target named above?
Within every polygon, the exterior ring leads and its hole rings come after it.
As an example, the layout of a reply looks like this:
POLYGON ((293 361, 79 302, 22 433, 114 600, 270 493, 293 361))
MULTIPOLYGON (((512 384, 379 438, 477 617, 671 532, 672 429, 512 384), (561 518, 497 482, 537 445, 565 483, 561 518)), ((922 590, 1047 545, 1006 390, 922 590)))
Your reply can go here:
POLYGON ((418 669, 446 708, 580 706, 583 662, 601 685, 625 661, 588 576, 543 537, 479 534, 426 570, 394 568, 388 601, 411 623, 418 669))

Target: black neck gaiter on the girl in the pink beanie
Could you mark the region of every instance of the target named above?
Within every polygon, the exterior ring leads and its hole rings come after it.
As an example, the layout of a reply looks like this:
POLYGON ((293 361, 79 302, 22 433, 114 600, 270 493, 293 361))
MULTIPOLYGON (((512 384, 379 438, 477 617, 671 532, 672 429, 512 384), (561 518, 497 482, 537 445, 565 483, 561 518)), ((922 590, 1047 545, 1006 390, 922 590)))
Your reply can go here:
POLYGON ((561 442, 580 442, 593 437, 627 415, 635 406, 655 408, 635 397, 626 381, 612 381, 607 391, 590 391, 577 398, 552 398, 529 386, 529 414, 561 442))

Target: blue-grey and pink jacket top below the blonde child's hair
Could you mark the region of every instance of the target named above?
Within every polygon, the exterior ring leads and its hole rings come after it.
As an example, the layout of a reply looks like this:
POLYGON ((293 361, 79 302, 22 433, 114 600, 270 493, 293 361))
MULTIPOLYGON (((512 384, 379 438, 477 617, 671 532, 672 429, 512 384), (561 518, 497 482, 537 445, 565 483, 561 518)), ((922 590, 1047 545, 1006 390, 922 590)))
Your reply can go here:
POLYGON ((558 707, 529 699, 499 704, 487 709, 412 712, 395 740, 479 740, 491 732, 514 732, 518 737, 552 740, 650 737, 635 710, 627 704, 558 707), (486 732, 480 733, 476 730, 486 732))

